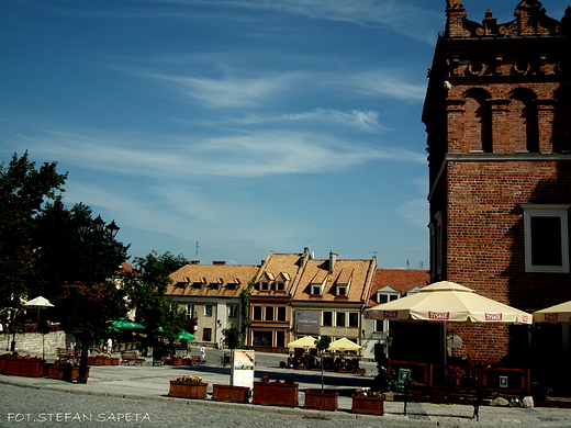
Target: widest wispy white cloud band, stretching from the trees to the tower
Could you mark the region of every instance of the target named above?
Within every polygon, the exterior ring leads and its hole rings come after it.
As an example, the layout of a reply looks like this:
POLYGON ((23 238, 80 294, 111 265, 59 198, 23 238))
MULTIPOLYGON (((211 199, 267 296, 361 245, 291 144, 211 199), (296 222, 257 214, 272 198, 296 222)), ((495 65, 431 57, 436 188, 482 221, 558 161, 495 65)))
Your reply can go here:
POLYGON ((422 155, 395 147, 280 129, 202 138, 163 135, 158 146, 153 136, 87 129, 38 129, 21 138, 20 144, 34 153, 82 168, 169 180, 329 173, 383 159, 425 161, 422 155))

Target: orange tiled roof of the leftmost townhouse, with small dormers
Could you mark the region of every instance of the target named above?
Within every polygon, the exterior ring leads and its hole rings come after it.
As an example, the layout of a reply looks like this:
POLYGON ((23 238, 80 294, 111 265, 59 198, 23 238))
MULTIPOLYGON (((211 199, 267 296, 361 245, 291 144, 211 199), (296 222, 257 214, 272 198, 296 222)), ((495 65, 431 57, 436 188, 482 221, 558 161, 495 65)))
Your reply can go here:
POLYGON ((258 272, 257 266, 187 264, 172 272, 168 296, 237 297, 258 272))

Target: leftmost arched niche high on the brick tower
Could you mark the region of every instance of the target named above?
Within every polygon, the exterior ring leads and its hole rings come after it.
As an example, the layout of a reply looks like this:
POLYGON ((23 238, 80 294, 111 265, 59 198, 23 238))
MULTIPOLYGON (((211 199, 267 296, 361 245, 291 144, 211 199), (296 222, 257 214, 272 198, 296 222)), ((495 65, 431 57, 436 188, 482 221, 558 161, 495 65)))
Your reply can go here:
POLYGON ((490 94, 471 89, 464 94, 464 142, 469 151, 492 153, 492 112, 490 94))

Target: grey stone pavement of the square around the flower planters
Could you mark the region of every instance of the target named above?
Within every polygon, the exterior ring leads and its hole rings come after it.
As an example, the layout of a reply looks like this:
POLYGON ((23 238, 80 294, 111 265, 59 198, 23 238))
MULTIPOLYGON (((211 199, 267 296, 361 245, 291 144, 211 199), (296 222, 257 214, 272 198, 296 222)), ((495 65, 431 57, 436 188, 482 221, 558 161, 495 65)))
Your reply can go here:
MULTIPOLYGON (((220 361, 211 352, 212 361, 220 361)), ((256 378, 269 374, 293 379, 303 390, 321 386, 318 372, 278 369, 281 357, 257 356, 256 378)), ((168 381, 177 375, 200 374, 212 384, 229 383, 229 369, 216 364, 201 368, 96 367, 87 384, 49 379, 0 375, 0 428, 12 427, 561 427, 571 428, 571 409, 536 407, 481 407, 480 421, 471 419, 473 408, 460 405, 412 403, 408 415, 403 404, 385 402, 385 415, 349 413, 350 392, 366 386, 367 376, 327 373, 327 388, 339 392, 339 410, 317 412, 302 407, 270 407, 167 397, 168 381)))

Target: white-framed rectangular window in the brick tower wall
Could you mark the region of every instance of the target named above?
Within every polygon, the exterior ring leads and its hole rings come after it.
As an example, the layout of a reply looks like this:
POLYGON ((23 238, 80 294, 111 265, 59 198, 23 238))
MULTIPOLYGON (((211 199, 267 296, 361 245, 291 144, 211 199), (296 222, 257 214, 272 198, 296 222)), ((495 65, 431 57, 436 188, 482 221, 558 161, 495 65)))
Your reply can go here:
POLYGON ((522 204, 526 272, 569 273, 567 213, 570 206, 522 204))

